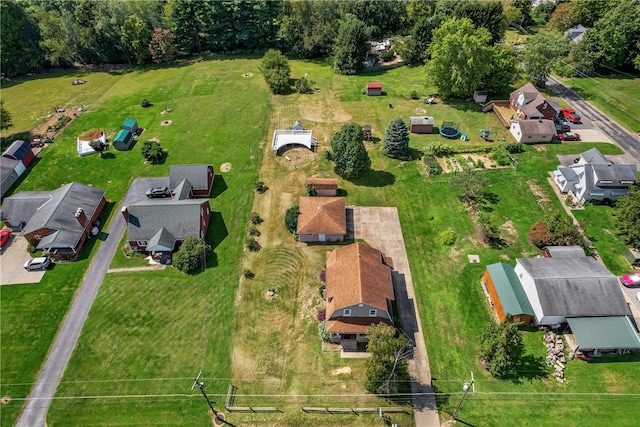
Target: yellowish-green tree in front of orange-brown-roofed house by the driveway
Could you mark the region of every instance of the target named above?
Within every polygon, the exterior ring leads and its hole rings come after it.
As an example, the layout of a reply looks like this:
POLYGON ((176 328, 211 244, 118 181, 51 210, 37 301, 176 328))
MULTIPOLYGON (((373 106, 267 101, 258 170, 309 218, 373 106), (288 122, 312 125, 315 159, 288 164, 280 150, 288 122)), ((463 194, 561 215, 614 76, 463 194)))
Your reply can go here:
POLYGON ((407 340, 393 326, 378 323, 367 327, 366 388, 374 394, 395 394, 398 384, 408 379, 407 340))

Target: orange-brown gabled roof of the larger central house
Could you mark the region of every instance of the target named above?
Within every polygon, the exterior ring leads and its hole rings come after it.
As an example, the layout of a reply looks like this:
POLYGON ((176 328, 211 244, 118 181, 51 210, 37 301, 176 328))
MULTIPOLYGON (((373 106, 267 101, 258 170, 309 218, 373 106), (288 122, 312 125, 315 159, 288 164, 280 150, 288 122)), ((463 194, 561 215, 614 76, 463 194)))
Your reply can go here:
POLYGON ((364 243, 354 243, 327 252, 327 318, 334 310, 367 304, 387 310, 393 300, 391 268, 384 255, 364 243))

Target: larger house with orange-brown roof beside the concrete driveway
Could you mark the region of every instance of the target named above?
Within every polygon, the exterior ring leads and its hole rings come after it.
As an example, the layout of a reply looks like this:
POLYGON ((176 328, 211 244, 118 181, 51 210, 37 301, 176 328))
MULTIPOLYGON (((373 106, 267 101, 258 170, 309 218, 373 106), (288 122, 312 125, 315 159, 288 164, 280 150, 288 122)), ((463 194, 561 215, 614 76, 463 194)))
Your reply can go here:
POLYGON ((326 331, 331 341, 345 348, 367 342, 367 326, 393 325, 391 301, 392 262, 364 243, 354 243, 327 252, 326 331))

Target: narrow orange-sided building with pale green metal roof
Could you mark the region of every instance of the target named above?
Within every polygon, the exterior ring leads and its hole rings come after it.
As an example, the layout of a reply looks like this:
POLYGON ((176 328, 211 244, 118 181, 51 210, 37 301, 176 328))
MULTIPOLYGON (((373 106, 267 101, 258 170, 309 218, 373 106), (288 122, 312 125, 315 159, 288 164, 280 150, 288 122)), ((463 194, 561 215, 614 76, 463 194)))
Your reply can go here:
POLYGON ((504 322, 507 315, 525 325, 533 321, 533 308, 511 265, 503 262, 488 265, 482 282, 500 322, 504 322))

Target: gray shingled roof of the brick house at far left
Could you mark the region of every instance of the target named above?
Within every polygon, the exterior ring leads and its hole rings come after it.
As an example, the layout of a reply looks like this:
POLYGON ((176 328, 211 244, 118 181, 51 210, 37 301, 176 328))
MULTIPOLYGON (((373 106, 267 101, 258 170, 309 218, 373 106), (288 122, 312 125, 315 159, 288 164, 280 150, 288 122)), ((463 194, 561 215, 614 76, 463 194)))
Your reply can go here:
POLYGON ((4 200, 1 217, 25 221, 22 235, 41 228, 57 231, 55 236, 47 235, 39 248, 74 248, 84 230, 75 217, 77 209, 82 208, 87 218, 91 218, 104 194, 100 188, 77 182, 53 191, 22 191, 4 200))

